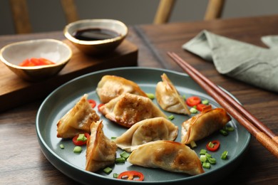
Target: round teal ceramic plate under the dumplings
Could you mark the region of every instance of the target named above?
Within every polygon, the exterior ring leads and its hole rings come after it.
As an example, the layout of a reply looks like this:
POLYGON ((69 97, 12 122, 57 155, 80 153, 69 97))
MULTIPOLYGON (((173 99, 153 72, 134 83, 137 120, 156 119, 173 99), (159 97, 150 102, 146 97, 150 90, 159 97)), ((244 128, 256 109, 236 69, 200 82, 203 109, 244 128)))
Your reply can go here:
MULTIPOLYGON (((46 100, 43 101, 38 110, 36 117, 36 132, 38 134, 38 142, 41 146, 43 154, 49 162, 58 170, 62 171, 70 178, 82 184, 212 184, 215 181, 222 179, 229 174, 237 164, 240 163, 244 153, 247 151, 250 134, 236 120, 232 119, 228 125, 235 127, 234 132, 230 132, 228 136, 223 136, 220 133, 212 134, 210 137, 197 142, 195 152, 199 154, 200 149, 205 149, 207 142, 212 139, 220 140, 221 146, 217 152, 211 152, 212 157, 217 159, 217 164, 212 165, 210 169, 205 169, 204 174, 189 176, 187 174, 173 173, 162 169, 149 169, 140 166, 133 166, 128 162, 125 164, 115 164, 110 166, 113 171, 110 174, 105 174, 102 170, 97 173, 92 173, 85 170, 86 163, 86 147, 83 147, 81 154, 73 152, 73 142, 70 139, 60 139, 56 137, 56 123, 58 120, 70 110, 76 102, 85 93, 88 94, 88 99, 99 102, 96 94, 96 87, 103 75, 118 75, 128 80, 133 80, 140 85, 145 93, 155 93, 155 86, 161 80, 160 75, 166 73, 168 78, 173 82, 180 95, 190 97, 197 95, 203 100, 210 101, 212 107, 220 107, 197 83, 195 83, 185 73, 177 73, 172 70, 164 70, 158 68, 114 68, 109 70, 101 70, 95 73, 89 73, 79 78, 69 81, 61 85, 53 91, 46 100), (60 144, 65 146, 64 149, 59 147, 60 144), (227 150, 228 159, 220 159, 223 151, 227 150), (145 175, 144 181, 125 181, 113 178, 113 173, 120 173, 126 170, 141 171, 145 175)), ((156 100, 153 100, 157 104, 156 100)), ((158 105, 158 104, 157 104, 158 105)), ((95 107, 98 112, 97 108, 95 107)), ((99 115, 100 112, 98 112, 99 115)), ((179 127, 179 133, 176 141, 180 142, 180 125, 189 117, 185 115, 176 115, 165 112, 166 115, 174 115, 173 122, 179 127)), ((113 122, 103 120, 103 132, 110 137, 120 136, 125 132, 125 128, 119 127, 113 122)), ((119 157, 120 149, 118 149, 117 157, 119 157)))

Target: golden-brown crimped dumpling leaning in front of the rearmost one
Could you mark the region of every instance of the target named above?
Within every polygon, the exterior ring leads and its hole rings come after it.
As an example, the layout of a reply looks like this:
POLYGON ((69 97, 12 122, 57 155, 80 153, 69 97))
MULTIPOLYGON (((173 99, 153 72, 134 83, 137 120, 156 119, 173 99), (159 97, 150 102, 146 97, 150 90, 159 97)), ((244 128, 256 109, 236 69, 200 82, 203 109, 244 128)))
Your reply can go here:
POLYGON ((167 116, 148 97, 125 93, 101 106, 101 113, 108 120, 130 128, 136 122, 153 117, 167 116))

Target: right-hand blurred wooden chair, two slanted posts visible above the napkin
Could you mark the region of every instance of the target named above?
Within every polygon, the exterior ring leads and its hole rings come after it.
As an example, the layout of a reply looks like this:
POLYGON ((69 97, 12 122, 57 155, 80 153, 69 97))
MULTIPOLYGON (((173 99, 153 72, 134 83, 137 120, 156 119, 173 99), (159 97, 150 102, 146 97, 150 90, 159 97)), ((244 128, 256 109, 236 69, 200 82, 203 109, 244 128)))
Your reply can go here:
MULTIPOLYGON (((167 23, 173 11, 176 0, 160 0, 153 23, 167 23)), ((222 16, 225 0, 209 0, 205 12, 205 20, 212 20, 222 16)))

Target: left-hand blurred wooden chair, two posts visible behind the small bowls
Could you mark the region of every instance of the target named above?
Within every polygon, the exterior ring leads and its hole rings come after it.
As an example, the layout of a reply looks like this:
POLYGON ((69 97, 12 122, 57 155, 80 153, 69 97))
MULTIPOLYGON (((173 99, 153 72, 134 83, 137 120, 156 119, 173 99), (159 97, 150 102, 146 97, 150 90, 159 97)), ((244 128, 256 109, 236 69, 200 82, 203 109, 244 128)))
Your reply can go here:
MULTIPOLYGON (((71 23, 77 21, 78 14, 73 0, 60 0, 66 21, 71 23)), ((16 33, 31 33, 32 26, 29 19, 29 12, 26 0, 9 0, 11 13, 14 19, 16 33)))

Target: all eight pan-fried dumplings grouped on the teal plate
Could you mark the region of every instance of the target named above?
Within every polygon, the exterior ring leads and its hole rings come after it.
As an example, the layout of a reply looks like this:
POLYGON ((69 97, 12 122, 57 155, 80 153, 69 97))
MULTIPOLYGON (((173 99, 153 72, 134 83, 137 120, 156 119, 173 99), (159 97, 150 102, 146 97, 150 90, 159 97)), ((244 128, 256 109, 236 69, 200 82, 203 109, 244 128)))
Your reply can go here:
POLYGON ((87 94, 58 120, 57 137, 91 133, 86 150, 87 171, 96 172, 114 164, 120 148, 131 153, 128 162, 133 165, 190 175, 204 173, 199 157, 187 144, 221 129, 231 118, 224 109, 208 106, 182 122, 181 142, 175 142, 178 127, 162 110, 183 115, 190 115, 190 110, 168 76, 163 73, 161 78, 155 89, 159 106, 131 80, 115 75, 101 78, 96 93, 104 105, 99 110, 108 120, 126 128, 115 141, 105 136, 103 120, 89 104, 87 94))

